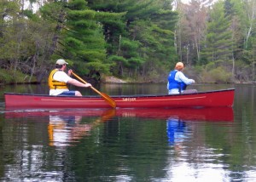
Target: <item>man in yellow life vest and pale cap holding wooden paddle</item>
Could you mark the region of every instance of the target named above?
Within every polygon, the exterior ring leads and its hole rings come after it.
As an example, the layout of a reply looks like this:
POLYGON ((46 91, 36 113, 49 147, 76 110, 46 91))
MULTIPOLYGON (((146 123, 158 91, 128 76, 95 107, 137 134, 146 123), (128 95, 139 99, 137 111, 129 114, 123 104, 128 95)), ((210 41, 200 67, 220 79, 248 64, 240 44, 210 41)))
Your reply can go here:
POLYGON ((49 84, 49 95, 75 95, 82 96, 79 91, 69 90, 67 83, 77 87, 88 88, 91 87, 90 83, 84 84, 76 79, 70 77, 72 70, 66 73, 68 63, 63 60, 57 60, 55 70, 49 73, 48 84, 49 84))

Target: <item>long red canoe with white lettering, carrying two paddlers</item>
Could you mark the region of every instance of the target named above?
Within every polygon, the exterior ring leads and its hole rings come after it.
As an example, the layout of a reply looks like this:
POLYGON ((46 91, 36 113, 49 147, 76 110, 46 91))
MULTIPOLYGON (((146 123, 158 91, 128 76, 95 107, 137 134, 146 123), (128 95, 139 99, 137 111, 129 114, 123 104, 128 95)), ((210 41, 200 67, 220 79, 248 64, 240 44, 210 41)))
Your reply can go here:
MULTIPOLYGON (((113 95, 117 108, 231 107, 235 88, 196 94, 113 95)), ((4 94, 6 108, 110 108, 100 96, 49 96, 43 94, 4 94)))

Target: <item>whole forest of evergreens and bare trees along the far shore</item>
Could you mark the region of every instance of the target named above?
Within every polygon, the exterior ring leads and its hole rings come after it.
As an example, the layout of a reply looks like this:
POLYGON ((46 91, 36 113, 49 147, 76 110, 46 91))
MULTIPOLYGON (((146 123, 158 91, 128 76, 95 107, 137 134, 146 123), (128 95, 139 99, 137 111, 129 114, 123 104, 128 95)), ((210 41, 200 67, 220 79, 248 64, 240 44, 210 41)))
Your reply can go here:
POLYGON ((1 0, 0 83, 45 82, 59 58, 80 77, 255 82, 255 0, 1 0))

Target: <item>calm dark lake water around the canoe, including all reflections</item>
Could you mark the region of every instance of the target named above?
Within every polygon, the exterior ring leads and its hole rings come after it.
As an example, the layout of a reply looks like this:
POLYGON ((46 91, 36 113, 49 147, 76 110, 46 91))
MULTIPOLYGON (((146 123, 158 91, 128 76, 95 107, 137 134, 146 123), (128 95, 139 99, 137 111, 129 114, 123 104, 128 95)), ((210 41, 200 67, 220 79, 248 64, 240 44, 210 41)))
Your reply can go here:
MULTIPOLYGON (((166 93, 166 84, 95 87, 106 94, 166 93)), ((0 180, 255 181, 256 84, 190 88, 236 88, 234 106, 5 111, 4 92, 48 94, 48 88, 2 86, 0 180)))

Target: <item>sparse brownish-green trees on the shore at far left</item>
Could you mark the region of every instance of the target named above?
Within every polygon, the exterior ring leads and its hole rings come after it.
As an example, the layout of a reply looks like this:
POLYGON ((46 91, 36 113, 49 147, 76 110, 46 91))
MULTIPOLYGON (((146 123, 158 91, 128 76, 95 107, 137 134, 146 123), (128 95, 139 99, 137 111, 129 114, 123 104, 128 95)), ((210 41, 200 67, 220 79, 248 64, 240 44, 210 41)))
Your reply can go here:
POLYGON ((45 24, 44 20, 38 22, 40 17, 32 14, 30 10, 21 12, 16 6, 13 8, 16 13, 10 13, 9 9, 6 12, 9 18, 3 20, 1 24, 1 67, 14 73, 23 72, 29 75, 28 82, 32 82, 34 75, 40 75, 48 67, 47 49, 52 36, 52 26, 45 24))

